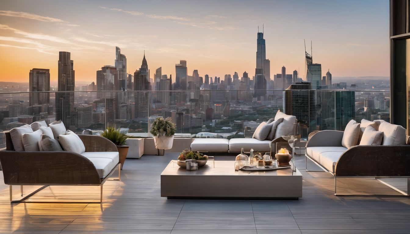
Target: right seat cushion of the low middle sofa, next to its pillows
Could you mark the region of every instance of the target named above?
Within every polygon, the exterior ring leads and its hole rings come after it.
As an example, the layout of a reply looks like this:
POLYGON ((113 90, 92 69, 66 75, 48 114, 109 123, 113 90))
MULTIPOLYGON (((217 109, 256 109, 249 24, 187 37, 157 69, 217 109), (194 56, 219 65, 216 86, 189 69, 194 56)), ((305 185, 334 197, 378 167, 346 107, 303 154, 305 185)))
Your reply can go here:
POLYGON ((269 152, 271 150, 269 143, 271 141, 259 141, 255 138, 232 138, 229 140, 229 151, 241 152, 241 148, 244 148, 245 152, 249 152, 251 149, 259 152, 269 152))

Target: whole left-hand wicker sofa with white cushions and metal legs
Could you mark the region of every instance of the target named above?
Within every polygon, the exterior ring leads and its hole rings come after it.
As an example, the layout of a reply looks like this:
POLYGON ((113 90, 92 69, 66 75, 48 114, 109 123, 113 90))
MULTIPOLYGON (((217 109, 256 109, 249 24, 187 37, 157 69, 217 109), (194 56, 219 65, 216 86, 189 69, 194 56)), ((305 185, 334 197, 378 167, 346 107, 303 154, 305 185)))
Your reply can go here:
MULTIPOLYGON (((50 126, 52 124, 54 123, 51 123, 50 126)), ((61 121, 56 124, 58 124, 58 127, 54 127, 53 133, 55 129, 59 129, 56 130, 57 132, 63 130, 64 124, 61 121)), ((45 125, 45 122, 43 125, 45 125)), ((43 128, 42 137, 45 135, 44 133, 50 130, 50 127, 46 126, 44 127, 47 129, 43 128)), ((77 152, 67 150, 33 151, 33 148, 37 149, 35 142, 32 145, 25 145, 25 148, 29 149, 29 151, 24 150, 16 132, 25 132, 25 134, 32 137, 32 135, 39 133, 39 130, 33 130, 30 125, 25 125, 19 129, 11 129, 4 132, 6 136, 6 149, 0 151, 0 164, 3 170, 4 183, 10 186, 10 202, 24 202, 38 191, 52 185, 100 186, 100 202, 102 202, 103 184, 117 168, 118 180, 121 179, 121 170, 119 170, 121 164, 119 164, 118 150, 114 143, 108 139, 102 136, 60 132, 55 134, 57 139, 61 138, 59 139, 60 143, 63 140, 62 135, 70 134, 71 136, 69 137, 71 139, 77 139, 77 137, 80 139, 81 142, 77 142, 80 145, 73 143, 73 145, 67 146, 68 148, 75 147, 72 150, 77 152), (79 148, 82 148, 84 152, 78 152, 79 148), (18 200, 13 199, 13 185, 21 186, 21 198, 18 200), (42 187, 23 196, 24 185, 42 185, 42 187)), ((51 136, 53 136, 52 133, 51 136)), ((44 138, 46 137, 44 136, 44 138)))

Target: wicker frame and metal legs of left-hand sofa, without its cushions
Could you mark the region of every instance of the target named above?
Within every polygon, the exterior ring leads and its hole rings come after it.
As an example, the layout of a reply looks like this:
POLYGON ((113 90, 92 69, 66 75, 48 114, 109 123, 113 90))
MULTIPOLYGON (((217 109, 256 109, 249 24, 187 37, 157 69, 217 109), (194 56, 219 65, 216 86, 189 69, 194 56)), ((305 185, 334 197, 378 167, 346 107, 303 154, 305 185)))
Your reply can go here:
MULTIPOLYGON (((86 157, 69 151, 15 151, 10 133, 6 136, 6 149, 0 151, 0 163, 4 183, 9 185, 10 202, 26 202, 35 193, 52 185, 100 186, 100 202, 75 201, 75 203, 103 202, 103 184, 118 168, 121 180, 121 164, 104 178, 100 178, 94 164, 86 157), (58 159, 58 160, 56 160, 58 159), (13 199, 13 185, 20 185, 21 198, 13 199), (23 186, 41 185, 42 187, 23 196, 23 186)), ((116 145, 102 136, 78 135, 85 146, 85 152, 118 152, 116 145)), ((47 202, 47 201, 46 201, 47 202)))

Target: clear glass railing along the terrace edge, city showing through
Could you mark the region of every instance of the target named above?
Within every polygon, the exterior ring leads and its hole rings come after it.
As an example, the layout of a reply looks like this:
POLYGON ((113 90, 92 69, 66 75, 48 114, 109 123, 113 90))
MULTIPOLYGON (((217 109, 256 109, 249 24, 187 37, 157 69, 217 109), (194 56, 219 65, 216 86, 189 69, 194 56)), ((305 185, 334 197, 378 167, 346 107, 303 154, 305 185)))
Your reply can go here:
MULTIPOLYGON (((61 119, 67 129, 79 134, 100 134, 107 126, 115 126, 130 136, 149 137, 150 125, 162 116, 175 123, 175 137, 250 138, 261 122, 280 110, 296 116, 302 138, 307 138, 315 130, 343 130, 351 119, 389 121, 388 91, 270 90, 258 97, 254 92, 0 93, 0 129, 61 119)), ((0 147, 4 147, 3 139, 1 134, 0 147)))

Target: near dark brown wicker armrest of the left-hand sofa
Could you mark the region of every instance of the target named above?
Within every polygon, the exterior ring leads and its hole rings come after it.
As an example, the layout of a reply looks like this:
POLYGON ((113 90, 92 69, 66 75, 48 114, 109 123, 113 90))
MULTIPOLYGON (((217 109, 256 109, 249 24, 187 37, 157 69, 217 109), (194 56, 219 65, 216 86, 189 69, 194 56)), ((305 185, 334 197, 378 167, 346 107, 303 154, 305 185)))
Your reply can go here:
POLYGON ((53 185, 101 183, 94 164, 69 151, 0 151, 4 183, 53 185))

